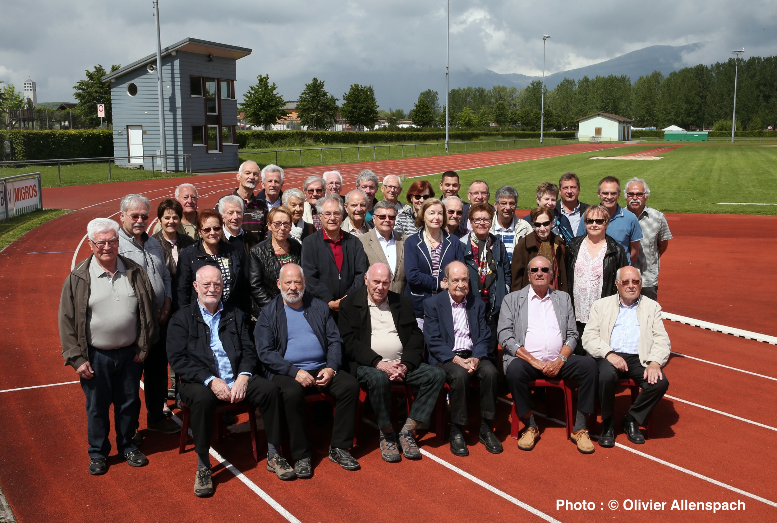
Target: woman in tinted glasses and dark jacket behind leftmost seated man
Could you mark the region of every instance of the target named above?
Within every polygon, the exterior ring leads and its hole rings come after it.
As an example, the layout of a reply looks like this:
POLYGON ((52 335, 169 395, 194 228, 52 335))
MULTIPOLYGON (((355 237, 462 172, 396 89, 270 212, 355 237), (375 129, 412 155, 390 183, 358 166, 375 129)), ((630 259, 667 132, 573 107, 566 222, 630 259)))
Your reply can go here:
POLYGON ((178 306, 183 308, 193 300, 193 283, 197 271, 205 265, 213 265, 221 271, 224 287, 221 301, 232 304, 251 319, 251 304, 246 281, 246 251, 239 243, 230 244, 221 239, 224 218, 213 209, 197 212, 197 230, 200 241, 181 251, 178 256, 178 306))

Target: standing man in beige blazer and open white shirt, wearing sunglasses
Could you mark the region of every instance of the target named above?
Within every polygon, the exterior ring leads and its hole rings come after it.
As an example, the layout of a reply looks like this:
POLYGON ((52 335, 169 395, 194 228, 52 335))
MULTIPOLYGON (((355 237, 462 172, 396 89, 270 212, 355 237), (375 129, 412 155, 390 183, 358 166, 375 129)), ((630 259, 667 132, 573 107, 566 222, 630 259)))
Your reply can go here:
POLYGON ((391 269, 389 290, 397 294, 405 293, 405 238, 406 234, 394 233, 396 206, 392 202, 381 200, 372 209, 375 229, 359 236, 370 265, 385 263, 391 269))

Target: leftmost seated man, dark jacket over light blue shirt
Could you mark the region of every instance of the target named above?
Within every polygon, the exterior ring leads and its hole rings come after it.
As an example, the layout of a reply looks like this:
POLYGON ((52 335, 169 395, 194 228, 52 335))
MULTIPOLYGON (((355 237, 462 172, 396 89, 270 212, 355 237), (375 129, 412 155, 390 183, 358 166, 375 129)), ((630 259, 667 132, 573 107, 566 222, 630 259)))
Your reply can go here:
POLYGON ((278 388, 254 374, 256 354, 246 321, 240 309, 221 302, 223 285, 221 271, 212 265, 201 267, 194 282, 197 301, 178 311, 167 330, 170 367, 179 378, 181 399, 191 410, 197 453, 194 493, 198 497, 213 493, 208 453, 214 412, 223 402, 239 403, 245 399, 262 409, 267 431, 267 470, 280 479, 295 477, 279 452, 278 388))

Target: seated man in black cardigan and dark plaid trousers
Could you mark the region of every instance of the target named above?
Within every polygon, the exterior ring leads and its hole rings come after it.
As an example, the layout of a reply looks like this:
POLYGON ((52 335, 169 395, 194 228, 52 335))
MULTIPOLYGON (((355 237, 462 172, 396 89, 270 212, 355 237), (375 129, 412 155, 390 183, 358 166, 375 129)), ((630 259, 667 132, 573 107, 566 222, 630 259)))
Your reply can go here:
POLYGON ((364 275, 366 285, 343 299, 337 322, 343 336, 343 368, 370 395, 381 430, 381 455, 389 463, 402 459, 391 423, 392 384, 419 389, 399 432, 399 445, 406 458, 420 459, 413 431, 429 423, 445 383, 444 370, 421 361, 423 333, 413 314, 413 300, 390 291, 391 279, 389 265, 371 265, 364 275))

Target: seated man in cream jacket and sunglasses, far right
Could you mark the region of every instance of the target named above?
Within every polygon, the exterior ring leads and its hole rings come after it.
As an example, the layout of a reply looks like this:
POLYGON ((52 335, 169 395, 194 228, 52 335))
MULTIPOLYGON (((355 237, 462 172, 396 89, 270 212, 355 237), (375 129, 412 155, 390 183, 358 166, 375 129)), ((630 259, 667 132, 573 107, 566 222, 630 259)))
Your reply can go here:
POLYGON ((639 296, 642 273, 635 267, 618 269, 615 286, 618 294, 594 301, 583 332, 583 346, 599 366, 602 447, 615 445, 612 419, 619 378, 630 377, 642 389, 622 423, 629 441, 638 445, 645 443, 639 425, 645 426, 669 388, 661 372, 671 349, 661 306, 649 297, 639 296))

